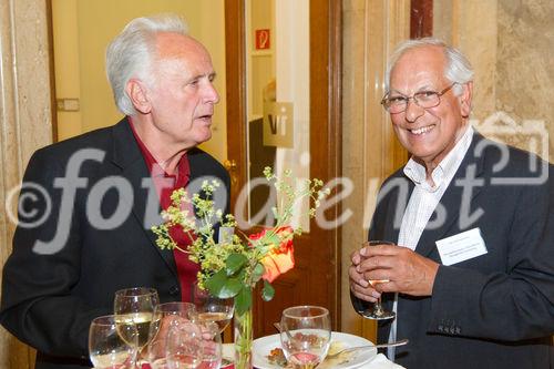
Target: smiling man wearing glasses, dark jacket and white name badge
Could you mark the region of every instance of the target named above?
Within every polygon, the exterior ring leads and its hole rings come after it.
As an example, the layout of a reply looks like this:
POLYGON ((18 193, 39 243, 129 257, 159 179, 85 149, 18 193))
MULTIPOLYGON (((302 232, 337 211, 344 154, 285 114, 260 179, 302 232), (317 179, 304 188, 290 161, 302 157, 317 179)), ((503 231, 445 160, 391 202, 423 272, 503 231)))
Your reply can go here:
POLYGON ((552 368, 553 166, 469 123, 473 70, 439 40, 399 45, 383 107, 407 165, 379 193, 369 239, 349 268, 363 315, 381 297, 396 319, 378 340, 410 368, 552 368), (388 280, 372 286, 368 280, 388 280))

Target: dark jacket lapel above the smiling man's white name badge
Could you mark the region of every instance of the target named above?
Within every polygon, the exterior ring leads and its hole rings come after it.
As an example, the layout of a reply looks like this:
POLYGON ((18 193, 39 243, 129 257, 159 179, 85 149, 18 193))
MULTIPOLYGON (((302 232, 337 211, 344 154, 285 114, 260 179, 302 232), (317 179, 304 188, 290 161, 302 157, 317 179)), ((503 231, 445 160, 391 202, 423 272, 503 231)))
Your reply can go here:
MULTIPOLYGON (((472 204, 482 188, 482 185, 476 184, 483 181, 481 178, 483 160, 482 157, 475 156, 475 146, 482 140, 484 140, 484 137, 475 132, 462 164, 431 215, 429 222, 430 224, 425 226, 425 230, 423 230, 418 242, 416 252, 420 255, 429 256, 437 247, 435 242, 443 238, 444 235, 456 225, 456 222, 460 223, 461 214, 465 217, 469 216, 471 212, 475 211, 472 204), (464 186, 464 184, 468 185, 468 181, 471 181, 471 187, 464 186), (471 192, 469 188, 471 188, 471 192), (441 218, 443 221, 440 221, 441 218), (437 222, 437 219, 439 219, 439 222, 437 222), (437 226, 432 226, 433 222, 437 222, 437 226)), ((466 230, 463 226, 458 229, 461 229, 461 232, 466 230)))

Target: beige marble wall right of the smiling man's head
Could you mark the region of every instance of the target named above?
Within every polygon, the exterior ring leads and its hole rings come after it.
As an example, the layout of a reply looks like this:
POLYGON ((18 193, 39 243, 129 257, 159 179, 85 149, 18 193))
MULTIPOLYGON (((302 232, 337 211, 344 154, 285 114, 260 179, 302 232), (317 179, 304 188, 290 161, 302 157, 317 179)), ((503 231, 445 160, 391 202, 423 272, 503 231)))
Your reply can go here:
POLYGON ((553 162, 554 2, 434 0, 433 19, 475 69, 478 129, 553 162))

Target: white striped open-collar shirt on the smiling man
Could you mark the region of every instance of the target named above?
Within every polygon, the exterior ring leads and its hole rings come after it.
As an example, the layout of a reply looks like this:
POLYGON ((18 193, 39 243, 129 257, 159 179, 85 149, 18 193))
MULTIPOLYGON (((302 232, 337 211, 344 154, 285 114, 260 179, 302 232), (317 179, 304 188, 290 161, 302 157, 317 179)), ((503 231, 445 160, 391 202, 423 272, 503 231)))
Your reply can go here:
MULTIPOLYGON (((408 247, 412 250, 416 249, 431 215, 454 177, 463 157, 468 153, 472 139, 473 127, 469 125, 454 148, 444 156, 431 173, 434 186, 427 181, 425 167, 423 165, 419 164, 413 158, 408 161, 403 172, 406 176, 413 182, 416 187, 413 188, 402 217, 402 224, 398 236, 399 246, 408 247)), ((392 309, 397 312, 397 317, 390 329, 389 342, 397 339, 398 294, 394 295, 392 309)), ((394 359, 394 348, 388 349, 388 356, 389 359, 394 359)))

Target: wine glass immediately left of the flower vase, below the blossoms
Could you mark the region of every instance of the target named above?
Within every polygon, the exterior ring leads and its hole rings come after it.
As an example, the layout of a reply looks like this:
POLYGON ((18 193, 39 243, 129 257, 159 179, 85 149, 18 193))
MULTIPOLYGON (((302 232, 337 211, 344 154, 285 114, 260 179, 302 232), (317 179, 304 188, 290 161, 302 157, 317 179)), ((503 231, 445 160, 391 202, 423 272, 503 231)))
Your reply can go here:
POLYGON ((198 284, 193 286, 193 303, 198 312, 198 320, 217 324, 219 332, 227 328, 233 318, 234 299, 212 296, 207 289, 199 288, 198 284))

